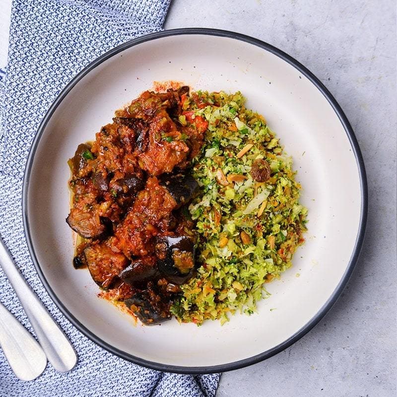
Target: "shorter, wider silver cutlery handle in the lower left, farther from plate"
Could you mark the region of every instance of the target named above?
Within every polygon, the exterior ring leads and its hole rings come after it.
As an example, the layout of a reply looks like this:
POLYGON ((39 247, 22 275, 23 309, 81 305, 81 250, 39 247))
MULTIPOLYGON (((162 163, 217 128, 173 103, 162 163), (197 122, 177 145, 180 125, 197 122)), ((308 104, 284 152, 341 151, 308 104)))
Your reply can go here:
POLYGON ((0 303, 0 346, 15 376, 33 381, 47 365, 47 357, 36 339, 0 303))

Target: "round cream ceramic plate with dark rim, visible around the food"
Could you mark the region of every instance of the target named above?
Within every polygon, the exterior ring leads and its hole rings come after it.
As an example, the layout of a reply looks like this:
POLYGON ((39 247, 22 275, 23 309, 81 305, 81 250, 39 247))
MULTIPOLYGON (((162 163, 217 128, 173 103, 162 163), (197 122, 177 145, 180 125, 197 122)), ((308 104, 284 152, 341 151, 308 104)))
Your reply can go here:
POLYGON ((123 44, 84 68, 45 116, 30 151, 23 191, 29 249, 49 294, 85 335, 109 351, 161 371, 209 373, 256 363, 286 348, 330 309, 357 261, 367 189, 361 154, 342 110, 320 81, 278 49, 236 33, 180 29, 123 44), (252 316, 201 327, 175 319, 155 327, 97 297, 88 270, 72 266, 66 164, 114 111, 153 86, 240 90, 293 156, 306 243, 252 316), (56 155, 49 155, 56 153, 56 155), (45 192, 45 194, 43 194, 45 192))

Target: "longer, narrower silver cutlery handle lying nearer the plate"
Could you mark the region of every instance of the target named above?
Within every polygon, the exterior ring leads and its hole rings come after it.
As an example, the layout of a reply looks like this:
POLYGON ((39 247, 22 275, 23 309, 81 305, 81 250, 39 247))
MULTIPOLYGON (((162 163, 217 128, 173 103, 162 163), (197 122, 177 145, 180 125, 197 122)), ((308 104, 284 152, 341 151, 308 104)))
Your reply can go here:
POLYGON ((70 371, 77 362, 72 345, 26 283, 1 238, 0 265, 14 288, 48 361, 59 372, 70 371))

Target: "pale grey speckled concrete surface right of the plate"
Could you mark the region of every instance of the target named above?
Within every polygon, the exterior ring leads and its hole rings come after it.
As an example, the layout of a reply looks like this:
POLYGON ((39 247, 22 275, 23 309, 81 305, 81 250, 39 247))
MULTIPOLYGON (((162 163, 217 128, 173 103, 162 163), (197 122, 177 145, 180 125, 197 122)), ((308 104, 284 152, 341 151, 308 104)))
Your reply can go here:
POLYGON ((225 373, 218 397, 396 396, 395 1, 173 0, 165 28, 213 27, 262 39, 330 89, 368 174, 364 248, 328 315, 287 350, 225 373))

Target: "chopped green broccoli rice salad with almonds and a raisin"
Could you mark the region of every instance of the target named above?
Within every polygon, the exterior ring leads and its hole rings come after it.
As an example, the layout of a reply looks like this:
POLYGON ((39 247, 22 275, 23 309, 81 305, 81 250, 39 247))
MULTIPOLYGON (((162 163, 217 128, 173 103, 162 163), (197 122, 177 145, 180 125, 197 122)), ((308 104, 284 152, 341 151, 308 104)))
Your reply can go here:
MULTIPOLYGON (((288 269, 304 242, 307 209, 299 204, 292 158, 263 116, 246 109, 240 92, 196 92, 182 103, 208 123, 192 175, 199 195, 186 212, 199 234, 197 274, 181 286, 171 312, 182 322, 224 324, 252 314, 268 296, 265 283, 288 269)), ((180 116, 181 124, 186 116, 180 116)))

